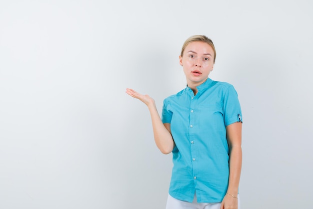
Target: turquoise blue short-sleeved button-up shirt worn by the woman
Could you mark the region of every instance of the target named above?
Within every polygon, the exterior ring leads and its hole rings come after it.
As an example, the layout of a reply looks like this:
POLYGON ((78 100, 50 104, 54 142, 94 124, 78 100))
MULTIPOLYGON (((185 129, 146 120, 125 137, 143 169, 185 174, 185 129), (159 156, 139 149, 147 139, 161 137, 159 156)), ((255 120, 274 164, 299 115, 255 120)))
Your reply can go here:
POLYGON ((175 142, 169 194, 192 202, 220 202, 229 176, 226 126, 241 122, 232 85, 207 79, 194 95, 189 87, 164 99, 162 122, 175 142))

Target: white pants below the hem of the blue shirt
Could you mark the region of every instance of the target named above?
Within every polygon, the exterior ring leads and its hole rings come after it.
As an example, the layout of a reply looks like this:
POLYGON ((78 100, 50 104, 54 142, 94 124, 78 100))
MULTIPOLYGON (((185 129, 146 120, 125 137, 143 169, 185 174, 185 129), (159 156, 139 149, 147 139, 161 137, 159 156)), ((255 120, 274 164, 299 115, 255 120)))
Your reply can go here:
MULTIPOLYGON (((217 203, 206 203, 206 202, 196 202, 196 195, 194 193, 193 201, 187 202, 174 197, 168 194, 166 208, 165 209, 220 209, 221 202, 217 203)), ((238 195, 238 209, 240 209, 240 201, 238 195)))

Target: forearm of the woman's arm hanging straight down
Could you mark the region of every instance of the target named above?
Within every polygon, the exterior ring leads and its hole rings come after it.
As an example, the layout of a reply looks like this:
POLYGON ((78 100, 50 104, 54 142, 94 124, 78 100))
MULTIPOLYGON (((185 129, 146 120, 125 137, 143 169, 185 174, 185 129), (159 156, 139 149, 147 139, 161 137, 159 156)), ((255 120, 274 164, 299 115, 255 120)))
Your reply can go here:
POLYGON ((242 150, 240 145, 229 147, 229 180, 227 193, 237 195, 241 164, 242 164, 242 150))

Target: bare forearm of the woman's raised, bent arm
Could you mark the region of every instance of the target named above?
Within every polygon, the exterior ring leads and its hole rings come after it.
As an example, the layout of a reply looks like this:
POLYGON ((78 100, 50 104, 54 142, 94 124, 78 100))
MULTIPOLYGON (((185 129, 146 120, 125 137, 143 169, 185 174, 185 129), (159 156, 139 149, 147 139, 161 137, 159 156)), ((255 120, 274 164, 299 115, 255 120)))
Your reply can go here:
POLYGON ((162 123, 155 104, 148 105, 148 109, 151 115, 155 144, 163 154, 168 154, 173 150, 174 147, 172 136, 169 130, 167 130, 162 123))

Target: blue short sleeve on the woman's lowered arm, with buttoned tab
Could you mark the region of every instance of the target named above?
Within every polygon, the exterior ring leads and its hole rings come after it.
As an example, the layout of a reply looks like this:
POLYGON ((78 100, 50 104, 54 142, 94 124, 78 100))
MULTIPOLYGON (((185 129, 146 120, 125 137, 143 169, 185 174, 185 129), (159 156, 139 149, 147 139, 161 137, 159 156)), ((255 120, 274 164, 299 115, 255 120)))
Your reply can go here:
POLYGON ((225 126, 235 122, 242 122, 241 107, 238 95, 233 86, 229 86, 224 94, 223 113, 225 126))

